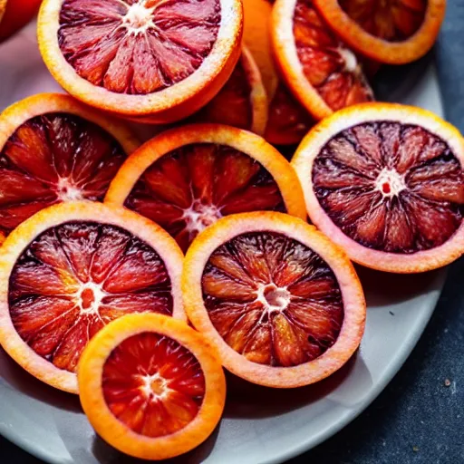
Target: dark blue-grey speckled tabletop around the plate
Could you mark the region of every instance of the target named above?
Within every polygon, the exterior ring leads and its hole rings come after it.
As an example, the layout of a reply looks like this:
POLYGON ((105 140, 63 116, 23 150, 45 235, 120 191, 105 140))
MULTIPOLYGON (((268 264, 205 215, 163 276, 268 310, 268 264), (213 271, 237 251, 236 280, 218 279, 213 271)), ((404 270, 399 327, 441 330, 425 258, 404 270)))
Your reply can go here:
MULTIPOLYGON (((447 119, 464 131, 464 0, 448 1, 433 58, 447 119)), ((2 401, 0 399, 0 401, 2 401)), ((344 430, 288 464, 464 464, 464 259, 410 358, 344 430)), ((1 464, 42 464, 0 438, 1 464)))

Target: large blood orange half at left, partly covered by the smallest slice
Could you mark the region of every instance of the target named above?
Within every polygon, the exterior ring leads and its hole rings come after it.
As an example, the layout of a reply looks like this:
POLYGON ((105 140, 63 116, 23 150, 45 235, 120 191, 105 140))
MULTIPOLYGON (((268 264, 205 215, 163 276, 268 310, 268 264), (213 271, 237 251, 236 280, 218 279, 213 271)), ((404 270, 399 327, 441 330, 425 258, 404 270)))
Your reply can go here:
POLYGON ((123 208, 43 209, 0 249, 0 343, 41 381, 75 393, 79 357, 104 324, 145 311, 185 320, 182 257, 164 230, 123 208))

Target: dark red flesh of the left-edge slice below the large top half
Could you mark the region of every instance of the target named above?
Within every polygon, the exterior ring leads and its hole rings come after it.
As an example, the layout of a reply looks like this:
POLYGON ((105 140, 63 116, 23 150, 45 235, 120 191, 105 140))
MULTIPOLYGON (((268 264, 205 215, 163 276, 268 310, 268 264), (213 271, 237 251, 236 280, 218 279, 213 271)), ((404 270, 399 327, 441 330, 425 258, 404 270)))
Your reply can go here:
POLYGON ((0 151, 0 233, 60 201, 102 200, 125 158, 110 134, 77 116, 24 122, 0 151))

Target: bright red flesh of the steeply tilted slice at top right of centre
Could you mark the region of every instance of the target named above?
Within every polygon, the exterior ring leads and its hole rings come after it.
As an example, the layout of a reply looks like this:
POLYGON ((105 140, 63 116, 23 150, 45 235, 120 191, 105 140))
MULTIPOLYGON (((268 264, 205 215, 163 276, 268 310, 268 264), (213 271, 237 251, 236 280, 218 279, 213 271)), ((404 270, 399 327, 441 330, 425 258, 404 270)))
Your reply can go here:
POLYGON ((333 111, 372 102, 372 90, 356 55, 334 35, 311 0, 298 0, 294 16, 296 52, 306 79, 333 111))

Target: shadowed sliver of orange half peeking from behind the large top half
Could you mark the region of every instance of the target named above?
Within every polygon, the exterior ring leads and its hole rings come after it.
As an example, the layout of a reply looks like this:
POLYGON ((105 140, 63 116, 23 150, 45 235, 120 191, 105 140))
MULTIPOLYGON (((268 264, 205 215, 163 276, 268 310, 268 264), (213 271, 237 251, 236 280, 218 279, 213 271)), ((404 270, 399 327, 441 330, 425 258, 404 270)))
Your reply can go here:
POLYGON ((267 122, 267 96, 261 73, 246 47, 226 85, 201 111, 196 121, 217 122, 262 135, 267 122))

